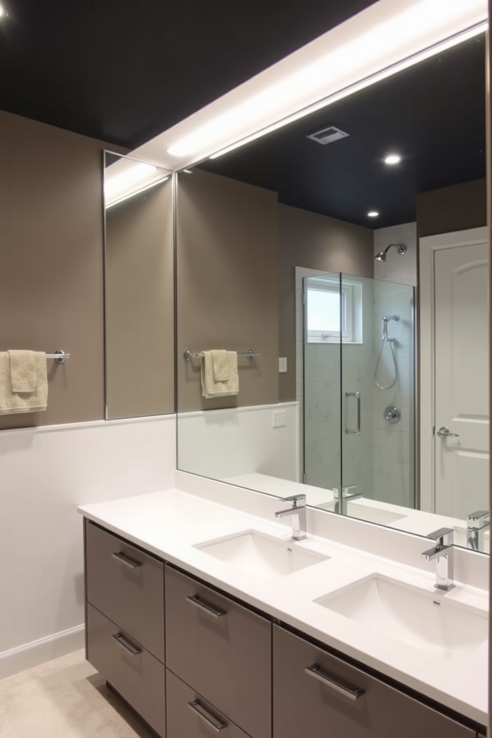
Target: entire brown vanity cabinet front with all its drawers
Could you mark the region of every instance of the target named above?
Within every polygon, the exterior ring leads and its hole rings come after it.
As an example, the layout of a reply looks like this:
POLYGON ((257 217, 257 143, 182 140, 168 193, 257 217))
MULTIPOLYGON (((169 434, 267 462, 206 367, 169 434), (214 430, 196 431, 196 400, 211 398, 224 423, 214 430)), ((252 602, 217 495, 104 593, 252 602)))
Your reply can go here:
POLYGON ((85 529, 87 658, 160 737, 485 738, 89 520, 85 529))

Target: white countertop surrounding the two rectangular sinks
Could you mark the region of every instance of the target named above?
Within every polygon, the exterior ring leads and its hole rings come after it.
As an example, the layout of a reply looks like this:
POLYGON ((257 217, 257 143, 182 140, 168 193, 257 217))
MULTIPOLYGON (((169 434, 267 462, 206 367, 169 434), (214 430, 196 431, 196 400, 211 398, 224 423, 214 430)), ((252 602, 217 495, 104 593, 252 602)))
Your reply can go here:
POLYGON ((434 570, 423 572, 315 536, 292 545, 325 554, 329 559, 276 579, 249 573, 195 546, 251 530, 287 541, 291 539, 289 529, 176 489, 81 506, 78 511, 323 644, 477 723, 488 724, 486 642, 448 657, 442 652, 437 656, 432 649, 404 644, 392 635, 391 629, 378 632, 363 627, 358 621, 316 603, 317 599, 375 573, 434 593, 436 598, 444 597, 488 613, 485 590, 457 582, 448 593, 436 592, 434 570))

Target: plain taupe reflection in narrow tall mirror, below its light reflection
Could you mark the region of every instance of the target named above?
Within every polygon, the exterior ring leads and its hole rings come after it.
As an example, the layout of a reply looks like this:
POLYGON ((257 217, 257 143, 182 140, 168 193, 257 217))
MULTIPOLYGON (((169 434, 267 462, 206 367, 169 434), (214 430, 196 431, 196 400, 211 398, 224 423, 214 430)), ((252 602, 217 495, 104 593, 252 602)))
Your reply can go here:
POLYGON ((174 412, 173 182, 106 211, 108 418, 174 412))

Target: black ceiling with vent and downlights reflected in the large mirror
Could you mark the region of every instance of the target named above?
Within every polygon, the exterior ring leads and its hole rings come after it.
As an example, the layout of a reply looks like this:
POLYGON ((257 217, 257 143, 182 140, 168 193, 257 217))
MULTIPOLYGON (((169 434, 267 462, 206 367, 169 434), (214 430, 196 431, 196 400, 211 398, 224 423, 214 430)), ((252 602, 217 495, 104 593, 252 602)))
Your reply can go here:
POLYGON ((201 167, 345 221, 415 221, 417 193, 485 177, 485 36, 201 167), (326 146, 306 137, 326 125, 350 137, 326 146), (393 168, 382 163, 391 151, 403 156, 393 168))

